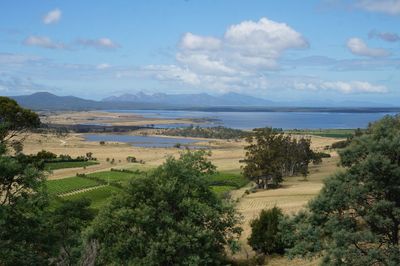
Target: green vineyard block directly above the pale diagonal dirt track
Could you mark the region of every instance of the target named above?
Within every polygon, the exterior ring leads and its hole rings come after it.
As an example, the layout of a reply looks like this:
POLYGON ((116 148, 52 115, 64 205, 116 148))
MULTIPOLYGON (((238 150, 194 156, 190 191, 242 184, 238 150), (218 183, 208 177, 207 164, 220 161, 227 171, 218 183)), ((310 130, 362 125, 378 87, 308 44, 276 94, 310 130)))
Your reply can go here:
POLYGON ((95 180, 84 177, 68 177, 47 181, 47 190, 50 195, 60 195, 72 191, 101 185, 95 180))

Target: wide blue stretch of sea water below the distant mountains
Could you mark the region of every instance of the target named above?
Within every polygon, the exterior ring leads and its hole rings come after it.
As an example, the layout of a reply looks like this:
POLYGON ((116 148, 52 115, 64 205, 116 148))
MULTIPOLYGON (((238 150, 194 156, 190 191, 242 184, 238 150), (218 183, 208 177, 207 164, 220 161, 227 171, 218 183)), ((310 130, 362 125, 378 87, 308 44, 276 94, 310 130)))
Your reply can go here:
MULTIPOLYGON (((225 126, 237 129, 274 127, 282 129, 348 129, 365 128, 370 122, 395 113, 337 113, 337 112, 203 112, 170 110, 112 110, 135 113, 146 118, 193 118, 207 120, 202 126, 225 126)), ((186 124, 187 126, 189 124, 186 124)), ((185 126, 183 123, 155 125, 156 127, 185 126)))

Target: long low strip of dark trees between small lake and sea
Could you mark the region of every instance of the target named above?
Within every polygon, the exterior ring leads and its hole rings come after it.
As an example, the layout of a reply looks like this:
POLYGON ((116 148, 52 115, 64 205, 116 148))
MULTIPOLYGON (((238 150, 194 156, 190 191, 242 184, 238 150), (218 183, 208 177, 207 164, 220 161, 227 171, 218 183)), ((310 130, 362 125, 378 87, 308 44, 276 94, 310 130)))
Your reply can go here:
MULTIPOLYGON (((161 132, 162 135, 194 137, 194 138, 212 138, 212 139, 241 139, 249 133, 239 129, 218 127, 199 127, 189 126, 183 128, 169 128, 161 132)), ((177 147, 178 148, 178 147, 177 147)))

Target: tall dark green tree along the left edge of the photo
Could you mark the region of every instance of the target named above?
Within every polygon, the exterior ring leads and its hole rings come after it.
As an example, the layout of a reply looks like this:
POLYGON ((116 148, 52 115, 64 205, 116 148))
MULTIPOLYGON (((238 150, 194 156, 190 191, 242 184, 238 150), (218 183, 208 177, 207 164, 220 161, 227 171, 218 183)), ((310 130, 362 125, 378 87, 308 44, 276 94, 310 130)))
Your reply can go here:
POLYGON ((44 175, 21 153, 7 155, 19 132, 39 125, 38 116, 0 97, 0 261, 2 265, 43 265, 54 251, 46 220, 44 175))

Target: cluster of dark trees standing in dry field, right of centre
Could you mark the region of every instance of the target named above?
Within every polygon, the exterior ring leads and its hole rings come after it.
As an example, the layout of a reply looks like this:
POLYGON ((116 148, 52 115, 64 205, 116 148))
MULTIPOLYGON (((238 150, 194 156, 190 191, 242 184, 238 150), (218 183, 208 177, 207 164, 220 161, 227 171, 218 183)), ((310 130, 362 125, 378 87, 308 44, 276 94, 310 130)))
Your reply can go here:
POLYGON ((253 130, 246 138, 243 174, 260 188, 276 187, 284 176, 307 176, 308 164, 315 158, 308 138, 292 138, 272 128, 253 130))

